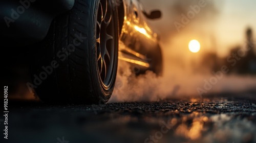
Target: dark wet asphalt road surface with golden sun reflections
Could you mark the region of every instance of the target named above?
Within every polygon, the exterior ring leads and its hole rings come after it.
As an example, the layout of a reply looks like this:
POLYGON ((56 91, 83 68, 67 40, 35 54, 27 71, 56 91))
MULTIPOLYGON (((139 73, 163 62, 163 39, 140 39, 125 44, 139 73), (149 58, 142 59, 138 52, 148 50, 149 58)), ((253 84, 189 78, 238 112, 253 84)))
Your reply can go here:
POLYGON ((105 105, 9 101, 9 105, 9 139, 1 133, 0 142, 256 142, 255 96, 105 105))

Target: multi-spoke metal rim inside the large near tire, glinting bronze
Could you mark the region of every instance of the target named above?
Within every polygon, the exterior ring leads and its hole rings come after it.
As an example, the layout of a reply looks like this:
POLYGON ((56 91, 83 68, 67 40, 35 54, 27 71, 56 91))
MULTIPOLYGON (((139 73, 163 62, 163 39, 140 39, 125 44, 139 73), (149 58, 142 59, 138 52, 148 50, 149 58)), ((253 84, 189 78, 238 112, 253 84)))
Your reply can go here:
POLYGON ((115 29, 113 13, 108 0, 100 1, 96 26, 98 74, 102 86, 105 89, 109 89, 115 68, 115 29))

